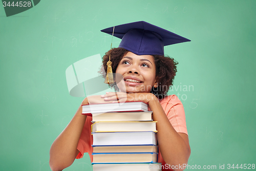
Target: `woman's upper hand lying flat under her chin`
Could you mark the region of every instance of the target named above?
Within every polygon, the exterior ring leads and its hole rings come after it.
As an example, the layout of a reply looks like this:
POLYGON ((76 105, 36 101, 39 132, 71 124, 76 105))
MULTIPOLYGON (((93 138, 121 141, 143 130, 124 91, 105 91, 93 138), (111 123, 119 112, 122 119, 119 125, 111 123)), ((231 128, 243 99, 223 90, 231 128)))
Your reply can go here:
POLYGON ((144 102, 148 104, 151 100, 158 100, 152 93, 125 93, 125 92, 106 92, 101 98, 107 102, 144 102))

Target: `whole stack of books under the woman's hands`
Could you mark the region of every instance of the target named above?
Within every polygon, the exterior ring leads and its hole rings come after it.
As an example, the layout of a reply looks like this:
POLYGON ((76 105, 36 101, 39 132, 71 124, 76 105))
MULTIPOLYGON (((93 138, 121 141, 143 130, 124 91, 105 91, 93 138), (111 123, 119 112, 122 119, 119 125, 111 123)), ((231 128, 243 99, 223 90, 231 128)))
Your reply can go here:
POLYGON ((143 102, 82 106, 92 116, 93 170, 161 170, 156 121, 143 102))

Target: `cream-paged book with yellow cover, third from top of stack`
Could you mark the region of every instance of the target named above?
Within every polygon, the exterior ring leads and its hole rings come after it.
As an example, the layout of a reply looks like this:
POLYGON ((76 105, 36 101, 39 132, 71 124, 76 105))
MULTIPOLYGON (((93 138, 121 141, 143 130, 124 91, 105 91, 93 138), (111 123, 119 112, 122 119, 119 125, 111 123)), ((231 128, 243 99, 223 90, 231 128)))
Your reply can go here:
POLYGON ((156 130, 157 121, 96 121, 91 125, 94 132, 139 132, 156 130))

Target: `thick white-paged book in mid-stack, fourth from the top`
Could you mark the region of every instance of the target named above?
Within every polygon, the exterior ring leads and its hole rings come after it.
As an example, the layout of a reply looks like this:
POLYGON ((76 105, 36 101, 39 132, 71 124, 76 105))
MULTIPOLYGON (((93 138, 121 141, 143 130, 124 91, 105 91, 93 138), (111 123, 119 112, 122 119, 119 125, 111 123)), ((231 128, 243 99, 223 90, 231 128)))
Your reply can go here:
POLYGON ((157 145, 155 132, 92 133, 93 145, 157 145))

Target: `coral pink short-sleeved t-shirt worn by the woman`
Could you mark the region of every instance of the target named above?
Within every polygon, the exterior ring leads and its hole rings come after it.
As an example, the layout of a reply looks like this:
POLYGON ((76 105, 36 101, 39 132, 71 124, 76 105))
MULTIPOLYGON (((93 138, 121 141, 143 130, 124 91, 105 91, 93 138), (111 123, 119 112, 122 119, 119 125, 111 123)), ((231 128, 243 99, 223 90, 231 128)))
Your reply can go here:
MULTIPOLYGON (((170 124, 174 127, 174 129, 179 133, 187 134, 187 127, 186 127, 186 119, 185 119, 185 112, 181 101, 178 99, 176 95, 168 95, 165 96, 163 100, 159 100, 163 110, 168 117, 170 124)), ((91 158, 91 162, 93 161, 92 157, 92 144, 93 144, 93 136, 91 134, 91 125, 92 125, 92 117, 87 116, 86 123, 84 123, 84 127, 77 145, 77 150, 80 152, 77 155, 77 159, 83 157, 83 153, 88 153, 91 158), (90 138, 89 138, 90 137, 90 138)), ((161 156, 159 151, 158 154, 158 162, 165 165, 165 162, 161 156)), ((162 170, 168 170, 162 168, 162 170)))

